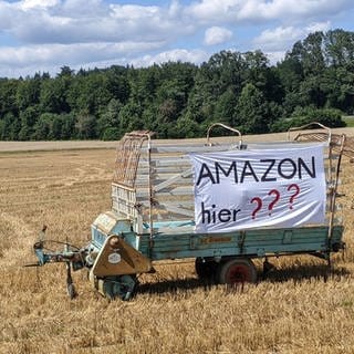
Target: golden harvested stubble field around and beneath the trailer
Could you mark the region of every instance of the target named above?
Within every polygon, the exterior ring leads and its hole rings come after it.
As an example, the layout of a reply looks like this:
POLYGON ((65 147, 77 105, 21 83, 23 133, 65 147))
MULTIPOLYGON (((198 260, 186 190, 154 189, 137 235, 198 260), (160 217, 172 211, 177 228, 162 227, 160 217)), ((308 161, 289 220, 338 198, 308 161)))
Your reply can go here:
POLYGON ((347 159, 341 186, 347 250, 333 257, 327 277, 324 262, 310 256, 280 258, 267 279, 230 291, 198 281, 191 262, 162 264, 140 277, 133 301, 110 302, 79 271, 80 295, 70 301, 63 264, 22 266, 35 261, 32 244, 43 223, 50 239, 87 242, 91 222, 111 208, 115 150, 45 148, 28 152, 23 143, 23 152, 0 153, 0 353, 354 353, 347 159))

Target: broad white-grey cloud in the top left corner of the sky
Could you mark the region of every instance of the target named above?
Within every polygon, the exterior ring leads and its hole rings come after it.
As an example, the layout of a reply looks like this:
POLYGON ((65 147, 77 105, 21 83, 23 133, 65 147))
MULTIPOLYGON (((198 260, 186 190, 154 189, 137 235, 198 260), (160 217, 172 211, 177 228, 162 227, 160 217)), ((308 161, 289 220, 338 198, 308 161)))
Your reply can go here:
POLYGON ((180 11, 176 1, 150 7, 100 0, 0 0, 0 30, 30 44, 173 40, 195 30, 180 11))

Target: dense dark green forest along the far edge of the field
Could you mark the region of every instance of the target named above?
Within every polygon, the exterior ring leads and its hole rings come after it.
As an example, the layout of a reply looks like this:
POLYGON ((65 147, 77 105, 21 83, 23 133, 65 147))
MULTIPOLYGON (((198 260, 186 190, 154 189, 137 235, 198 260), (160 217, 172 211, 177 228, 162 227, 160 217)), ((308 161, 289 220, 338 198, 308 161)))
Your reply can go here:
POLYGON ((0 77, 0 139, 118 139, 205 136, 221 122, 243 134, 317 121, 344 126, 354 114, 354 32, 314 32, 281 62, 261 51, 221 51, 200 65, 62 66, 55 77, 0 77))

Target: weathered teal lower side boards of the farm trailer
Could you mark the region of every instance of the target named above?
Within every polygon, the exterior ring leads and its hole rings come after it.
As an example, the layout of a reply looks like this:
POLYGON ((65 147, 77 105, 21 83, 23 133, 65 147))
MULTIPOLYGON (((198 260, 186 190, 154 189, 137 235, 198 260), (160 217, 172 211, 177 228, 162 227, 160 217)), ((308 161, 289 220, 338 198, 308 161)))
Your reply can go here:
MULTIPOLYGON (((330 248, 341 244, 343 227, 332 230, 330 248)), ((262 258, 290 253, 321 253, 329 250, 329 227, 251 229, 228 233, 157 232, 140 237, 139 251, 153 261, 180 258, 248 257, 262 258)))

